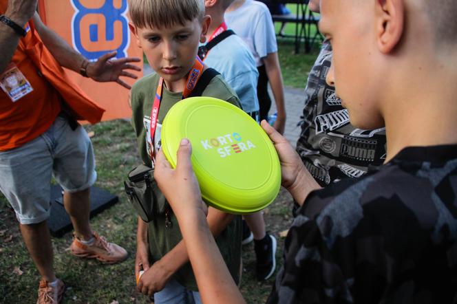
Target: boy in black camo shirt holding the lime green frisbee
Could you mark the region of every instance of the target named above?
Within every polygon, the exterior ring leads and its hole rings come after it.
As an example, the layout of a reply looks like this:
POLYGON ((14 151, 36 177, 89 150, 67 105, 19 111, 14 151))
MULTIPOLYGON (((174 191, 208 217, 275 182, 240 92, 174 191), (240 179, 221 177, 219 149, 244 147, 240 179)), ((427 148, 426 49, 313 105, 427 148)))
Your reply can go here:
MULTIPOLYGON (((290 144, 262 123, 283 186, 304 202, 268 303, 457 303, 456 17, 455 0, 321 0, 319 28, 333 48, 327 81, 355 127, 385 126, 386 161, 316 191, 290 144)), ((195 181, 187 140, 178 154, 176 170, 160 156, 156 173, 179 210, 200 294, 242 303, 224 279, 197 183, 182 182, 195 181), (182 204, 176 188, 191 199, 182 204)))

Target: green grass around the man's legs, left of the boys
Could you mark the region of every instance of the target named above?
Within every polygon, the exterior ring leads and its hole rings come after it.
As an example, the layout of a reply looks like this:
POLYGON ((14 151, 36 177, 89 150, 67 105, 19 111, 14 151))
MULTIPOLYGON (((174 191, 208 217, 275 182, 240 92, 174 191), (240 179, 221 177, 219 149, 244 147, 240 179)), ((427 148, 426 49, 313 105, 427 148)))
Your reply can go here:
MULTIPOLYGON (((135 291, 136 215, 123 193, 122 184, 129 170, 140 163, 134 132, 125 120, 102 122, 87 130, 95 132, 92 140, 98 171, 96 186, 120 197, 118 204, 91 220, 92 228, 109 241, 124 246, 129 258, 118 265, 78 259, 66 250, 71 243, 71 233, 53 238, 54 268, 69 287, 65 303, 111 303, 114 300, 147 303, 145 296, 135 291)), ((23 245, 14 213, 4 197, 0 200, 0 302, 34 303, 39 274, 23 245), (5 242, 10 236, 12 240, 5 242), (23 274, 15 274, 14 268, 23 274)))

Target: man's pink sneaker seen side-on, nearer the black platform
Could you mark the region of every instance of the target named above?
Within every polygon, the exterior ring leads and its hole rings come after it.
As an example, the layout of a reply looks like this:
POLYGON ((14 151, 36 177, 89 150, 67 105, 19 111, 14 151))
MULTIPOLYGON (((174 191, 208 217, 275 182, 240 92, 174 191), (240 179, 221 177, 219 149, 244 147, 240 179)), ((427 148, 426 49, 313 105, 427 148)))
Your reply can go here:
POLYGON ((94 243, 86 245, 74 237, 73 243, 70 246, 72 254, 76 257, 95 258, 103 263, 114 264, 127 259, 127 251, 124 248, 109 243, 105 237, 100 237, 96 232, 92 232, 94 243))

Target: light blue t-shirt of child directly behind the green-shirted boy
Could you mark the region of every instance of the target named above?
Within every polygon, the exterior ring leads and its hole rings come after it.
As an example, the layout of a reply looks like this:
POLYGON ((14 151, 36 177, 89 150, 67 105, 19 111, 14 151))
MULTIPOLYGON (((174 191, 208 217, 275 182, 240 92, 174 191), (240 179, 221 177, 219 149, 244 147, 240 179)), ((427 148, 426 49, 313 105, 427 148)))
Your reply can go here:
POLYGON ((259 73, 253 55, 239 36, 231 35, 217 43, 204 58, 204 63, 222 74, 240 98, 244 111, 259 111, 257 100, 259 73))

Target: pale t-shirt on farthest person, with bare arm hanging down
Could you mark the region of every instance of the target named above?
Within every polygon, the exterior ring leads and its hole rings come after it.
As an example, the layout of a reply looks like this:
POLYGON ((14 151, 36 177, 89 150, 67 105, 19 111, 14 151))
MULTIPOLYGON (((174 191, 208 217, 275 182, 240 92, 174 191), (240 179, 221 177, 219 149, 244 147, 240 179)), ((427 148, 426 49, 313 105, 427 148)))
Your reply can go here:
POLYGON ((277 52, 275 25, 264 3, 246 0, 240 8, 226 12, 224 18, 251 49, 257 67, 263 65, 261 58, 277 52))

